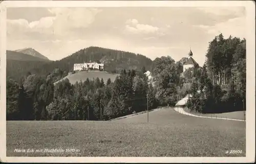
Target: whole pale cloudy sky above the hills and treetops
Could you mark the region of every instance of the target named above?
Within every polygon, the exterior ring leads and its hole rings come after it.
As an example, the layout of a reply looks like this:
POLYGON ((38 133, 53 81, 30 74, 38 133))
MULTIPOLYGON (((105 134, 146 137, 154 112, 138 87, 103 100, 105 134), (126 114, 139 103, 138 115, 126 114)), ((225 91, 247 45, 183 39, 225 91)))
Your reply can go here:
POLYGON ((7 50, 33 48, 59 60, 89 46, 203 65, 209 41, 246 38, 244 7, 7 8, 7 50))

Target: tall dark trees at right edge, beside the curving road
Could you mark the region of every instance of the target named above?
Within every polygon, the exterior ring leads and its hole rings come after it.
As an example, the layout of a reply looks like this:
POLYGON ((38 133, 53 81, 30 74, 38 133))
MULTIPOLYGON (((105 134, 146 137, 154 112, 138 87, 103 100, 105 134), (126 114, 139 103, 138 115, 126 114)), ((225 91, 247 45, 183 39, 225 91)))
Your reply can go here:
POLYGON ((246 40, 215 37, 199 81, 193 80, 187 107, 203 113, 246 109, 246 40), (198 90, 200 92, 198 92, 198 90))

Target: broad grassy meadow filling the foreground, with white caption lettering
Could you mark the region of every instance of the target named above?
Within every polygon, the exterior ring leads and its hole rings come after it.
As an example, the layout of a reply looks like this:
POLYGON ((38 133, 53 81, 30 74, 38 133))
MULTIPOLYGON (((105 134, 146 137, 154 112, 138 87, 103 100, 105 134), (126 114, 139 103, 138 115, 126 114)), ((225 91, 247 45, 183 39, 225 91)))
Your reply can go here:
POLYGON ((7 121, 7 156, 245 157, 245 127, 172 108, 149 112, 148 123, 147 113, 114 121, 7 121))

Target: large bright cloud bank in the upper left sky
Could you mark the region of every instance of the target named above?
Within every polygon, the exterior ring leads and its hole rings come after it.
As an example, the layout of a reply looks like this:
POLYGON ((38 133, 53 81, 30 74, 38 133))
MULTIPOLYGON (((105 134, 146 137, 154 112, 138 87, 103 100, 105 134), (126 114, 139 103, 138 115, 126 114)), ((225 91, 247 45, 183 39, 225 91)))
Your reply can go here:
MULTIPOLYGON (((101 10, 94 8, 51 8, 48 9, 55 16, 41 17, 29 22, 27 19, 7 19, 8 37, 23 39, 67 38, 74 35, 78 28, 84 30, 94 21, 101 10), (45 36, 44 36, 45 35, 45 36)), ((80 31, 79 31, 80 32, 80 31)), ((77 34, 79 36, 79 34, 77 34)))

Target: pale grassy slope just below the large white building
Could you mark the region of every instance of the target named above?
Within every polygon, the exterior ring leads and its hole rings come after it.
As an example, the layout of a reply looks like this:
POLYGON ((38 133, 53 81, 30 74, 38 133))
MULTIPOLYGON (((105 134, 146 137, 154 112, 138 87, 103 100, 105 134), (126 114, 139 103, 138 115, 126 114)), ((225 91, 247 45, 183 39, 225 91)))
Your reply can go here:
MULTIPOLYGON (((106 81, 109 78, 111 79, 112 82, 114 82, 117 76, 118 74, 110 74, 110 73, 100 72, 100 71, 91 71, 91 72, 82 71, 82 72, 77 72, 75 74, 68 75, 61 80, 69 79, 71 84, 75 84, 76 82, 86 81, 87 78, 89 78, 89 80, 93 80, 98 77, 99 79, 102 78, 106 83, 106 81)), ((60 82, 61 80, 55 82, 54 85, 60 82)))

